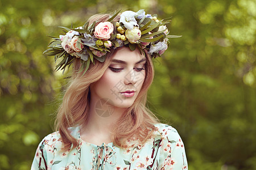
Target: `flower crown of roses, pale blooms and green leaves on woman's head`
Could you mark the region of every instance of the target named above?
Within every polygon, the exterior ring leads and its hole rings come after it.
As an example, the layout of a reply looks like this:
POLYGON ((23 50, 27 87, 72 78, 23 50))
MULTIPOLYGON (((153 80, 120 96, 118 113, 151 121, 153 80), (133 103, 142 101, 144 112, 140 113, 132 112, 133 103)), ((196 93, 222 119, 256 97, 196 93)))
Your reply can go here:
POLYGON ((63 70, 64 73, 65 68, 71 66, 75 58, 80 58, 80 71, 84 70, 85 73, 90 62, 94 64, 95 59, 104 62, 106 53, 111 48, 122 46, 129 46, 131 50, 138 46, 141 53, 146 49, 152 58, 160 57, 168 48, 168 38, 180 37, 168 35, 166 24, 171 22, 170 18, 158 20, 156 14, 146 15, 144 10, 139 10, 122 12, 119 22, 113 22, 120 11, 109 16, 106 22, 97 25, 97 21, 90 25, 86 22, 75 29, 60 27, 65 32, 63 35, 59 38, 49 36, 54 41, 49 43, 44 54, 55 56, 55 62, 61 58, 55 70, 63 70))

